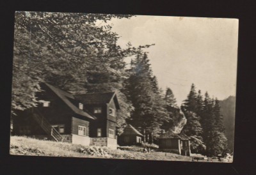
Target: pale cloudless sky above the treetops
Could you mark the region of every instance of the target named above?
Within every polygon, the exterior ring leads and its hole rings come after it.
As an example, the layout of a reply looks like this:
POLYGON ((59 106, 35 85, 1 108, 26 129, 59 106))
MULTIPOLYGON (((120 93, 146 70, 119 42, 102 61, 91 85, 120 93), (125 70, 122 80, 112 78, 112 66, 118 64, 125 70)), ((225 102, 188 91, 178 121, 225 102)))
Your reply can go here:
POLYGON ((237 19, 139 15, 111 24, 123 48, 156 44, 145 51, 160 88, 171 88, 178 105, 192 83, 219 100, 236 95, 237 19))

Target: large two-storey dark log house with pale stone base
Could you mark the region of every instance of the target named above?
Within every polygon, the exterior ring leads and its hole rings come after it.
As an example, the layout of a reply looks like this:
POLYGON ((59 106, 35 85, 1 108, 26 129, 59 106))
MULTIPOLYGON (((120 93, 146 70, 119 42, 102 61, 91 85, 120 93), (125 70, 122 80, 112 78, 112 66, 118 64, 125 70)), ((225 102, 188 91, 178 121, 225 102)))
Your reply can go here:
POLYGON ((72 95, 51 84, 40 86, 40 105, 17 111, 13 135, 116 148, 116 93, 72 95))

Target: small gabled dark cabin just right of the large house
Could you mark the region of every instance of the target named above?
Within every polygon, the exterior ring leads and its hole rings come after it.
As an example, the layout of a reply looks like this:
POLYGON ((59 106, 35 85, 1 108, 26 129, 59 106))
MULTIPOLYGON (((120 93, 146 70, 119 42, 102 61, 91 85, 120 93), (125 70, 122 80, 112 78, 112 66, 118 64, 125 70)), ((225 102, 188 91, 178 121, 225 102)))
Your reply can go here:
POLYGON ((143 134, 136 130, 132 125, 127 125, 124 132, 118 137, 120 146, 140 145, 143 139, 143 134))

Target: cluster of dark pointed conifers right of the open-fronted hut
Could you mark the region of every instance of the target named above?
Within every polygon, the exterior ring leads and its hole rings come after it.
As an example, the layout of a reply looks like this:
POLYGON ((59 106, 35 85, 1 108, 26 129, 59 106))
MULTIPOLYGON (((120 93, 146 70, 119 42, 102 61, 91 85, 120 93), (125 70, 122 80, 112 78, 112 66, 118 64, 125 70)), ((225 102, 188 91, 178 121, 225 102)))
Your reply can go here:
POLYGON ((181 109, 188 120, 182 133, 191 137, 191 151, 207 156, 230 152, 218 98, 210 98, 207 92, 203 97, 192 84, 181 109))

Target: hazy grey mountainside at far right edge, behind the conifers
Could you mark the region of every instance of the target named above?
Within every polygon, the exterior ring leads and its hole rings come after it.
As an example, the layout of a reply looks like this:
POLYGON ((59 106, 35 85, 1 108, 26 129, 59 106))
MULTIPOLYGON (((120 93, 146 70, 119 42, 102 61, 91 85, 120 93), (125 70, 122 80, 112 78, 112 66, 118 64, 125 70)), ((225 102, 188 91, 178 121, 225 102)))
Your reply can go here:
POLYGON ((228 139, 228 148, 233 151, 235 113, 236 113, 236 96, 229 96, 220 101, 221 114, 223 115, 223 124, 225 126, 225 135, 228 139))

